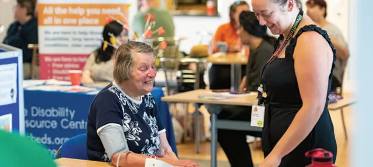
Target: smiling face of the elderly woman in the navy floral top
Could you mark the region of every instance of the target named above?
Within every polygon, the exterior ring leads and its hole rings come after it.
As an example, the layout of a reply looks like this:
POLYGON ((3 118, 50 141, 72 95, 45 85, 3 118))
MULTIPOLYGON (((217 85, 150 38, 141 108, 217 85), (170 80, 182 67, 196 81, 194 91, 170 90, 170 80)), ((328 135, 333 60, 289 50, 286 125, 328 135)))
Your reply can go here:
POLYGON ((132 77, 128 81, 135 92, 145 95, 153 90, 157 75, 155 57, 152 53, 135 53, 133 55, 132 77))

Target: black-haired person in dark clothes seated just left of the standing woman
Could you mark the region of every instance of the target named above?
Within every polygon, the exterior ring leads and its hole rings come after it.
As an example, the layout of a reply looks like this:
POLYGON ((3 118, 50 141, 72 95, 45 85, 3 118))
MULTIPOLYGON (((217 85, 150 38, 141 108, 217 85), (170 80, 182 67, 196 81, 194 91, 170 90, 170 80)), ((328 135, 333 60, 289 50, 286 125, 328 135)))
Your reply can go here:
MULTIPOLYGON (((246 65, 246 76, 240 90, 257 91, 261 71, 274 52, 274 46, 268 42, 267 26, 259 24, 254 12, 243 11, 240 14, 238 34, 242 43, 250 46, 250 56, 246 65)), ((251 107, 226 105, 222 107, 218 119, 251 120, 251 107)), ((254 167, 246 135, 260 137, 261 132, 218 129, 218 142, 224 150, 232 167, 254 167)))

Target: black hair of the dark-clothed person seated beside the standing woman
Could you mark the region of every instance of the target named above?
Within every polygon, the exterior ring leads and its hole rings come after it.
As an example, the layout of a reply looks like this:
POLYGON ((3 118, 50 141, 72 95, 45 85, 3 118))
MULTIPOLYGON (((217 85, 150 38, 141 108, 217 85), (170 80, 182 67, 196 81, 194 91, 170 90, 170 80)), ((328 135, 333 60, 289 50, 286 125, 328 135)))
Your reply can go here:
POLYGON ((240 25, 244 30, 256 37, 263 38, 271 44, 276 43, 276 38, 271 37, 267 34, 267 26, 260 25, 259 20, 252 11, 242 11, 239 16, 240 25))

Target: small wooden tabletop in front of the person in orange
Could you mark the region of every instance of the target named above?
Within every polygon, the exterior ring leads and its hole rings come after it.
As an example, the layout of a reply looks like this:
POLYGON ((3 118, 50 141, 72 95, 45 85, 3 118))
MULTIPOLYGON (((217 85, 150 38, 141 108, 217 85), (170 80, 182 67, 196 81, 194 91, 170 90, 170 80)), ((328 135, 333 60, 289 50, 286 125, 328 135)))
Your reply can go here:
POLYGON ((209 56, 207 58, 203 58, 206 62, 212 64, 219 64, 219 65, 230 65, 230 64, 247 64, 247 57, 242 55, 241 53, 227 53, 224 56, 214 57, 209 56))

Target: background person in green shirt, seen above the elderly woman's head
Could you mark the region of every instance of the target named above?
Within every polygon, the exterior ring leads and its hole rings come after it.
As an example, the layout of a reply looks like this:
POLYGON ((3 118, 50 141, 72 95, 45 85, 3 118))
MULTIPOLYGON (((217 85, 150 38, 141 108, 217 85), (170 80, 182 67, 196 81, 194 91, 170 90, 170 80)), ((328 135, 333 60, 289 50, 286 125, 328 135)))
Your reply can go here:
MULTIPOLYGON (((159 9, 155 6, 154 0, 139 0, 140 11, 136 13, 132 22, 132 30, 139 35, 144 33, 144 26, 147 20, 147 14, 154 14, 155 25, 152 30, 157 30, 159 27, 163 27, 166 33, 158 35, 158 33, 153 34, 153 38, 158 37, 175 37, 175 25, 171 13, 165 9, 159 9)), ((168 43, 169 44, 169 43, 168 43)), ((169 44, 170 45, 170 44, 169 44)))

